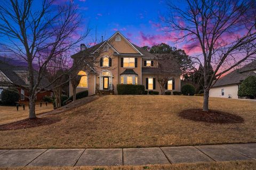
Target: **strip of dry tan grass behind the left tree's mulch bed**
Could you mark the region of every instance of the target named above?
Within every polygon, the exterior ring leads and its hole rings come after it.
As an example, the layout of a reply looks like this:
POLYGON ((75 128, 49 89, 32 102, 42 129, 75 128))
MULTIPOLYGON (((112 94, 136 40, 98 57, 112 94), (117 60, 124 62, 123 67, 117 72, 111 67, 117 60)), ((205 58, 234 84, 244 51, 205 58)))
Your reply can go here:
MULTIPOLYGON (((0 106, 0 125, 28 118, 28 103, 25 105, 25 111, 23 111, 22 106, 19 106, 19 111, 17 111, 16 106, 0 106)), ((51 103, 47 104, 47 106, 45 106, 43 103, 42 107, 40 107, 39 103, 36 104, 37 114, 49 112, 52 110, 53 105, 51 103)))

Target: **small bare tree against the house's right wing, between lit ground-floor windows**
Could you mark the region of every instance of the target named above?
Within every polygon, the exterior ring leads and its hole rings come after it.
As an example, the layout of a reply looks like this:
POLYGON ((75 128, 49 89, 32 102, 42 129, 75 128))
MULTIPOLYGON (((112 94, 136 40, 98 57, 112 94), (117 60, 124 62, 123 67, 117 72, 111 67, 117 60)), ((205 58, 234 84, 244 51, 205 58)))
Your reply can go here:
POLYGON ((180 75, 181 70, 172 54, 158 54, 156 61, 158 66, 156 80, 159 83, 161 94, 164 95, 167 82, 180 75))

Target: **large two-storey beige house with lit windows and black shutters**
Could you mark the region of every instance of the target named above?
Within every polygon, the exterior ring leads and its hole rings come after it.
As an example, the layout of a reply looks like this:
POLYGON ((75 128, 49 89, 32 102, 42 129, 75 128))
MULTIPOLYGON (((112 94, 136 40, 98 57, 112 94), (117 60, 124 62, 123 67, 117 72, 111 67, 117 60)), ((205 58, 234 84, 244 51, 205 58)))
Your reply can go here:
MULTIPOLYGON (((86 49, 82 45, 81 52, 71 57, 74 62, 81 57, 90 61, 88 57, 95 58, 97 54, 99 60, 90 64, 91 69, 89 71, 82 69, 78 73, 83 77, 76 92, 88 90, 89 95, 94 95, 96 91, 103 92, 114 89, 114 94, 117 94, 117 84, 142 84, 148 91, 161 92, 156 80, 158 73, 156 56, 130 43, 119 31, 107 41, 93 47, 86 49)), ((83 63, 81 65, 83 66, 83 63)), ((180 91, 181 72, 178 64, 175 67, 178 69, 172 69, 169 72, 170 80, 166 84, 166 91, 180 91)), ((69 95, 73 95, 71 83, 69 83, 69 95)))

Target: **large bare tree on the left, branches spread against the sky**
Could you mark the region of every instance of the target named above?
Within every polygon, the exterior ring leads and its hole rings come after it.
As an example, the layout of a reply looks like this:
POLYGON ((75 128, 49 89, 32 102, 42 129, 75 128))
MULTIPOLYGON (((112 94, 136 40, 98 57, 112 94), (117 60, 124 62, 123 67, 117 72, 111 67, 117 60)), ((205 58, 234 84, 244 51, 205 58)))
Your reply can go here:
POLYGON ((5 52, 26 61, 29 72, 29 118, 35 118, 36 94, 48 88, 39 87, 47 63, 60 54, 68 53, 83 36, 77 36, 81 15, 72 2, 54 5, 43 0, 6 0, 0 4, 0 35, 8 39, 1 43, 5 52), (38 76, 35 77, 35 65, 38 76))

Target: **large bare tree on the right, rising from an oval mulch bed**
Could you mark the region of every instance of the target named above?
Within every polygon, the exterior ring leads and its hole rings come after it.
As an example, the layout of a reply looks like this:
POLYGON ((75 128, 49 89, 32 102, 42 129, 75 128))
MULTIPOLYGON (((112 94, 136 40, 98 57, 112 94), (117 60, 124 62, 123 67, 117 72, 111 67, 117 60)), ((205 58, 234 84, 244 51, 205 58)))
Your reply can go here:
POLYGON ((255 3, 254 0, 186 0, 185 8, 168 4, 170 15, 165 22, 169 31, 179 33, 176 41, 202 50, 194 59, 203 66, 203 111, 209 111, 209 91, 214 80, 255 57, 255 3))

